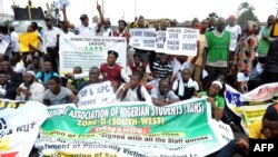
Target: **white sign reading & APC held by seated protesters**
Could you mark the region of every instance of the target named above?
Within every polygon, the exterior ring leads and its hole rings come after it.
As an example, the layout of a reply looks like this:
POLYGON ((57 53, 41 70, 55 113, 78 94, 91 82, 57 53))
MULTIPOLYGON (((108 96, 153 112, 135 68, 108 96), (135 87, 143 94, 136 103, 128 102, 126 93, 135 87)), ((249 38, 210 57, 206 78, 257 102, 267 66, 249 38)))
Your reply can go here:
POLYGON ((92 84, 78 92, 78 106, 103 105, 116 101, 110 81, 92 84))

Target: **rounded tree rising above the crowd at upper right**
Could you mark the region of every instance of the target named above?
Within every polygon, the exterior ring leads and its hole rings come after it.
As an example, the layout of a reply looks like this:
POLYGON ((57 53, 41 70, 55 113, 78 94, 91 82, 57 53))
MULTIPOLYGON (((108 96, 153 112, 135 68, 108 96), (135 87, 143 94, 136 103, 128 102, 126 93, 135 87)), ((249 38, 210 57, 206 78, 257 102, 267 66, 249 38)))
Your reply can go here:
POLYGON ((258 18, 254 13, 255 8, 248 2, 242 2, 238 7, 238 24, 242 28, 246 21, 258 21, 258 18))

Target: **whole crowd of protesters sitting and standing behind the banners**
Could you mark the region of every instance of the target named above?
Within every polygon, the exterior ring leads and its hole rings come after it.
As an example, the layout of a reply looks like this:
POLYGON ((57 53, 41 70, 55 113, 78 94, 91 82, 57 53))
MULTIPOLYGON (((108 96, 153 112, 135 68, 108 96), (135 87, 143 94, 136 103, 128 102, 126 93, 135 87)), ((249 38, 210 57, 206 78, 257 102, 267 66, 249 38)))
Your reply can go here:
MULTIPOLYGON (((66 8, 61 10, 62 21, 46 11, 44 32, 36 22, 26 28, 27 32, 37 32, 40 40, 38 47, 30 45, 30 51, 23 53, 19 50, 20 41, 14 28, 1 26, 0 35, 9 39, 10 45, 6 52, 0 55, 0 97, 11 100, 37 100, 47 106, 77 104, 77 95, 86 86, 111 81, 119 101, 149 101, 163 107, 180 100, 207 96, 211 104, 212 117, 232 126, 234 116, 227 111, 224 98, 225 84, 245 94, 259 85, 278 81, 275 16, 268 17, 265 27, 255 21, 246 21, 242 28, 236 23, 235 16, 218 18, 214 26, 208 19, 199 21, 196 18, 191 28, 199 29, 200 35, 198 52, 193 58, 135 49, 132 53, 127 50, 132 59, 126 67, 121 67, 117 65, 119 53, 109 50, 107 62, 91 67, 88 72, 82 71, 79 66, 75 67, 72 73, 61 78, 61 35, 122 37, 129 41, 128 23, 125 20, 119 20, 118 28, 112 30, 110 19, 103 17, 99 4, 97 10, 99 19, 90 23, 88 16, 81 14, 80 24, 70 23, 66 8), (158 80, 158 86, 147 85, 152 80, 158 80)), ((59 14, 59 10, 57 13, 59 14)), ((175 21, 156 21, 153 27, 156 30, 166 31, 168 27, 176 24, 175 21)), ((130 27, 151 26, 140 16, 130 27)), ((269 110, 274 109, 268 109, 267 112, 270 112, 269 110)), ((269 120, 278 120, 277 111, 276 118, 265 119, 265 122, 269 124, 269 120)), ((239 141, 235 141, 235 146, 236 143, 239 141)), ((245 140, 240 141, 242 143, 245 140)))

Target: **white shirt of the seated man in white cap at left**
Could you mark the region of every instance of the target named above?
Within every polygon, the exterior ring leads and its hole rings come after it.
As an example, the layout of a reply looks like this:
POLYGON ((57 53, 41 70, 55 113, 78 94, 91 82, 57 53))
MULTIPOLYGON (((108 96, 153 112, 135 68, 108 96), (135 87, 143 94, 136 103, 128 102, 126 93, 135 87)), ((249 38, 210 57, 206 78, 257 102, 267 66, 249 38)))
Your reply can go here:
MULTIPOLYGON (((28 89, 28 87, 26 87, 23 82, 19 86, 19 88, 28 89)), ((31 92, 31 96, 28 100, 43 102, 44 87, 41 84, 34 81, 32 85, 30 85, 29 92, 31 92)), ((26 95, 23 92, 20 92, 20 96, 17 96, 16 99, 26 100, 26 95)))

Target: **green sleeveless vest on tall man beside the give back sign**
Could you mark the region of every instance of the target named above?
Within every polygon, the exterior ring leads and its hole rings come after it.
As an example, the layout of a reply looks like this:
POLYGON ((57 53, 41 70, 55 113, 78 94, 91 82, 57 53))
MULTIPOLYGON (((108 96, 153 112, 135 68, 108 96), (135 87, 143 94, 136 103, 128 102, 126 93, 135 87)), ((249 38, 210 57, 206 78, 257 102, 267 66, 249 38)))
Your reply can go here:
POLYGON ((208 55, 207 60, 209 62, 216 62, 218 60, 228 59, 230 32, 224 31, 222 37, 215 36, 214 31, 206 33, 208 55))

